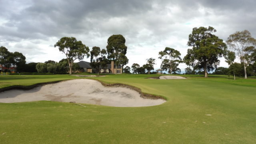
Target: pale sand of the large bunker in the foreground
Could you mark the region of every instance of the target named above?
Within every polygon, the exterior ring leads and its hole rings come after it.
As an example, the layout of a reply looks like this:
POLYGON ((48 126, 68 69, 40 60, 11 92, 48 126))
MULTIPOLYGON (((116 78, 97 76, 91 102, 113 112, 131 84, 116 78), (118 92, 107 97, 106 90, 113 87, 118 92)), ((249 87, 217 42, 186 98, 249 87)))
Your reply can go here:
POLYGON ((123 87, 106 87, 96 80, 76 79, 47 84, 32 90, 8 90, 0 93, 0 102, 51 100, 117 107, 154 106, 163 99, 141 98, 140 93, 123 87))

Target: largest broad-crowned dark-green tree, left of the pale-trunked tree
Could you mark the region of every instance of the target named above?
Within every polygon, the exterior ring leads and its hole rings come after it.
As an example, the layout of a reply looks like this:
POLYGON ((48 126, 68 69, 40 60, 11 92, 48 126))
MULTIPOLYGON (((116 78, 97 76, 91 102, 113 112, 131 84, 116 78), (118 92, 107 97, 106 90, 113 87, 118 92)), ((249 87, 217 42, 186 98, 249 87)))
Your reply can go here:
POLYGON ((187 55, 183 58, 188 66, 204 70, 204 77, 208 77, 207 71, 217 67, 220 63, 218 58, 222 57, 226 50, 226 44, 212 34, 213 32, 216 30, 211 26, 193 28, 192 34, 188 36, 188 46, 193 48, 188 49, 187 55))

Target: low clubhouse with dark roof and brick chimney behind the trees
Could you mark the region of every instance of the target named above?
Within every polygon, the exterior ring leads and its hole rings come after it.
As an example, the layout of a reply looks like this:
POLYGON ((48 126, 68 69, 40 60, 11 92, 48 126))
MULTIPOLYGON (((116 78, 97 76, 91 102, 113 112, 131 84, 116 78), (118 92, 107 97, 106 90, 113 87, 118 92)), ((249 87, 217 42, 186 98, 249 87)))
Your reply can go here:
MULTIPOLYGON (((80 72, 90 72, 90 73, 97 73, 97 70, 92 68, 90 62, 80 61, 78 62, 80 66, 80 72)), ((100 73, 107 73, 107 74, 122 74, 122 66, 118 65, 116 69, 116 64, 114 61, 111 61, 111 64, 107 64, 106 68, 100 67, 100 73)))

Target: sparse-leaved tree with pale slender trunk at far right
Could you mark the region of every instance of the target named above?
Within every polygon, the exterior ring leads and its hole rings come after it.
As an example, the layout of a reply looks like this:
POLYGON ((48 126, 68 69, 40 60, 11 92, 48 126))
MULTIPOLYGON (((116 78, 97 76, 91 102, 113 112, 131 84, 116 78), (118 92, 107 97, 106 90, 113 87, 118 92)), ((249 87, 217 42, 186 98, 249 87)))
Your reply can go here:
POLYGON ((236 52, 241 63, 244 64, 244 78, 247 78, 246 67, 253 60, 253 52, 256 46, 256 39, 252 38, 248 30, 242 32, 235 32, 227 39, 229 48, 236 52))

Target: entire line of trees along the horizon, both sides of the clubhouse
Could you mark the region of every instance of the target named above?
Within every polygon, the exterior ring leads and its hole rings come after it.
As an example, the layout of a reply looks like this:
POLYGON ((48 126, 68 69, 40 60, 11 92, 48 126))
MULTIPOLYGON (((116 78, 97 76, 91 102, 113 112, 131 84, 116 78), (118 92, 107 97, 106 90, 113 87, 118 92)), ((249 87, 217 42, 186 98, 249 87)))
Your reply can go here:
MULTIPOLYGON (((216 29, 211 26, 193 28, 187 43, 192 48, 187 50, 183 59, 180 58, 180 52, 174 48, 166 47, 160 51, 158 58, 162 60, 161 69, 169 74, 177 74, 181 72, 178 65, 185 63, 190 66, 185 68, 186 74, 201 74, 203 72, 204 76, 208 77, 208 73, 214 69, 218 73, 220 69, 217 67, 220 64, 219 59, 224 57, 229 65, 226 74, 232 74, 234 77, 236 75, 241 76, 241 66, 243 66, 245 78, 247 78, 247 74, 255 75, 256 40, 252 38, 250 32, 248 30, 235 32, 227 38, 226 43, 214 35, 214 32, 216 29), (236 58, 240 59, 240 63, 234 62, 236 58)), ((106 64, 110 63, 110 60, 114 60, 116 66, 121 65, 123 67, 129 61, 126 57, 127 46, 125 46, 125 42, 126 40, 122 35, 112 35, 108 38, 106 49, 94 46, 90 51, 88 46, 77 41, 76 38, 63 37, 56 42, 54 47, 58 47, 60 52, 66 55, 66 63, 40 63, 36 65, 36 70, 51 73, 64 72, 64 66, 68 66, 69 72, 72 74, 73 66, 76 65, 74 61, 82 60, 84 57, 90 57, 91 66, 98 73, 101 68, 105 68, 106 64)), ((3 66, 14 66, 18 70, 22 64, 26 63, 25 59, 25 56, 19 52, 8 52, 5 47, 0 47, 0 63, 3 66)), ((155 59, 148 58, 146 60, 146 64, 142 66, 134 63, 131 68, 126 66, 123 70, 125 73, 130 73, 132 70, 134 74, 146 74, 146 71, 150 74, 150 71, 154 70, 155 59)))

